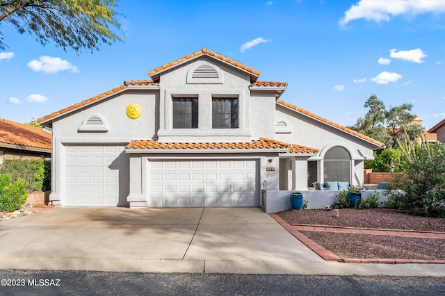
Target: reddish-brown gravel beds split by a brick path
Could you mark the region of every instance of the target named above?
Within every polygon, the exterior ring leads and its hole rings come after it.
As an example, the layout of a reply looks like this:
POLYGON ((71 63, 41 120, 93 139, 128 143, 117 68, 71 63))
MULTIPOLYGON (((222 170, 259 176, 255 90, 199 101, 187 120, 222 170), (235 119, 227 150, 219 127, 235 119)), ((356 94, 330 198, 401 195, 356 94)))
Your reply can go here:
MULTIPOLYGON (((346 208, 339 210, 339 217, 333 217, 332 211, 318 209, 277 214, 289 224, 445 232, 445 218, 408 215, 387 208, 346 208)), ((341 258, 445 260, 445 240, 441 239, 316 231, 302 233, 341 258)))

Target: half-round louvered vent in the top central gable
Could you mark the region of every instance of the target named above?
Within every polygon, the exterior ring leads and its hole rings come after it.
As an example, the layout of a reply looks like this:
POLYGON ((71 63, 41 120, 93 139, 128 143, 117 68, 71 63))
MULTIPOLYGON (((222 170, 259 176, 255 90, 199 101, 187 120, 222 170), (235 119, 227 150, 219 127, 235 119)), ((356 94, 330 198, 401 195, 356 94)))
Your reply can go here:
POLYGON ((187 72, 187 83, 190 84, 222 84, 223 73, 216 65, 203 60, 192 65, 187 72))

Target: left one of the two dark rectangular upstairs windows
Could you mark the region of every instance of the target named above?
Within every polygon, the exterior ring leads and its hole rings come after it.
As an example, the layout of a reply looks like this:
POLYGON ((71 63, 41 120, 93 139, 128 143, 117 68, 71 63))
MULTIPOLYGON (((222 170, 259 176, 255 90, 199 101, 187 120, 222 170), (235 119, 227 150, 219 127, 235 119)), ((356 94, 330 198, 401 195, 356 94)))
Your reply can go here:
POLYGON ((197 129, 197 98, 173 98, 173 129, 197 129))

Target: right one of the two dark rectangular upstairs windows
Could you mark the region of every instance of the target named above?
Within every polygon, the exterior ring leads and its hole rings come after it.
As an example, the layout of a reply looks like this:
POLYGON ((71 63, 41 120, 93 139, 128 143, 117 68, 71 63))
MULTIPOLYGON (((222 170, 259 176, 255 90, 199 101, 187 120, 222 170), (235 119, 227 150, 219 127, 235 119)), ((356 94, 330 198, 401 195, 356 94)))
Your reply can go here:
POLYGON ((211 115, 213 129, 238 129, 238 98, 213 98, 211 115))

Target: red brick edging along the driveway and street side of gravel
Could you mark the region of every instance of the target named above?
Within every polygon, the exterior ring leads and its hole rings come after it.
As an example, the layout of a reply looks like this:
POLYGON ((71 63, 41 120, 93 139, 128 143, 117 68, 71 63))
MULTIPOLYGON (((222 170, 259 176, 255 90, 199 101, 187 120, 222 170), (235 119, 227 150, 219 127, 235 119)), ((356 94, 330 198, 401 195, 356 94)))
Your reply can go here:
MULTIPOLYGON (((272 217, 278 224, 280 224, 286 231, 291 233, 295 238, 300 240, 309 249, 312 249, 318 256, 323 258, 325 261, 339 261, 344 263, 380 263, 380 264, 411 264, 411 263, 430 263, 430 264, 445 264, 445 260, 422 260, 422 259, 391 259, 391 258, 340 258, 336 254, 330 252, 330 250, 325 249, 318 243, 314 242, 303 233, 295 229, 292 225, 287 223, 279 215, 275 213, 270 213, 272 217)), ((312 225, 310 225, 312 226, 312 225)), ((315 225, 314 225, 315 226, 315 225)), ((351 227, 352 228, 352 227, 351 227)), ((388 229, 387 229, 388 230, 388 229)))

